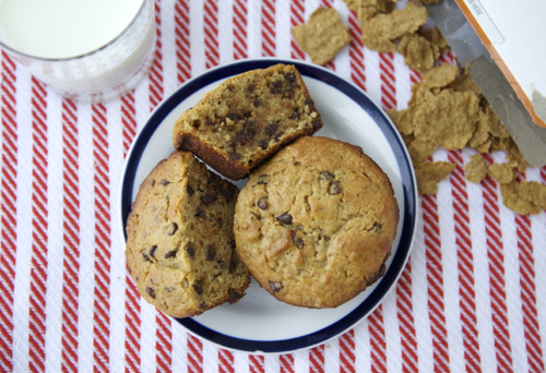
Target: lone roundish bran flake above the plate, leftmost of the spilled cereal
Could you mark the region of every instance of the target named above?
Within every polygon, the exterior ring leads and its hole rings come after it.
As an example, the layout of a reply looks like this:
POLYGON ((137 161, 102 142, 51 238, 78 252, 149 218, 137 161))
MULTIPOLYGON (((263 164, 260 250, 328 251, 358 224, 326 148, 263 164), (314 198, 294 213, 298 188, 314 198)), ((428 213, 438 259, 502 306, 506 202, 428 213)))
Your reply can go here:
POLYGON ((306 24, 293 27, 292 35, 317 64, 328 63, 353 39, 340 13, 323 7, 319 7, 306 24))

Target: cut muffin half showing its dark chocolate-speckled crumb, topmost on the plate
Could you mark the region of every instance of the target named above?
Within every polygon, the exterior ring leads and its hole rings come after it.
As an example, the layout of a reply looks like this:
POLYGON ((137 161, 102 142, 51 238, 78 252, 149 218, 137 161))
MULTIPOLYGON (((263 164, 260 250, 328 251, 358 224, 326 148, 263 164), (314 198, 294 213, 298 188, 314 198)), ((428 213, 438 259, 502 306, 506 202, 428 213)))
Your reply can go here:
POLYGON ((321 128, 299 72, 276 64, 230 77, 207 93, 176 121, 173 144, 239 180, 284 145, 321 128))

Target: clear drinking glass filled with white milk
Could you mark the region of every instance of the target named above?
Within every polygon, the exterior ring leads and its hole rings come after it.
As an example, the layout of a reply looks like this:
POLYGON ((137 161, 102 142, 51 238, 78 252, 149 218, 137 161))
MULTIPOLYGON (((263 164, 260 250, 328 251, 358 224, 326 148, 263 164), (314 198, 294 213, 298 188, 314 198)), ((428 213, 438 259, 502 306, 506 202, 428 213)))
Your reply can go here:
POLYGON ((0 0, 0 47, 66 97, 116 98, 152 64, 154 0, 0 0))

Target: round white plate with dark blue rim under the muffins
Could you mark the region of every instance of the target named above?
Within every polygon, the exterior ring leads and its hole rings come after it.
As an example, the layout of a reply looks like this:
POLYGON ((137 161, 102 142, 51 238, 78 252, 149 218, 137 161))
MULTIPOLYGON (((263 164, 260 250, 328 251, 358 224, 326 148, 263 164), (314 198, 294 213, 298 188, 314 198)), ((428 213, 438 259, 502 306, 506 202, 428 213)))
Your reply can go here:
MULTIPOLYGON (((360 146, 391 179, 400 207, 400 222, 385 275, 349 302, 332 310, 310 310, 282 303, 256 281, 236 304, 224 304, 200 316, 179 318, 190 333, 223 348, 252 353, 292 352, 323 344, 355 326, 371 313, 399 278, 414 239, 417 188, 404 143, 393 124, 366 94, 323 68, 278 59, 244 60, 209 70, 188 81, 157 106, 129 151, 121 180, 120 229, 140 183, 174 151, 175 120, 203 94, 225 79, 275 63, 292 63, 301 73, 324 127, 317 135, 360 146)), ((239 188, 246 180, 236 182, 239 188)), ((126 237, 127 238, 127 237, 126 237)))

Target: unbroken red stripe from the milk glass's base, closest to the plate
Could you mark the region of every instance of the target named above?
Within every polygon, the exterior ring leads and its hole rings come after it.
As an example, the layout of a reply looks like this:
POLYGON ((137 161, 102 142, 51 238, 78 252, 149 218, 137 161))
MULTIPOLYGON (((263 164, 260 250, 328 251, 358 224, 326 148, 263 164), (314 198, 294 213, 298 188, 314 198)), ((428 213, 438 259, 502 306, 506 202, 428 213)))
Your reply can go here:
POLYGON ((95 372, 109 371, 110 339, 110 192, 106 107, 92 106, 95 206, 95 289, 93 359, 95 372))

